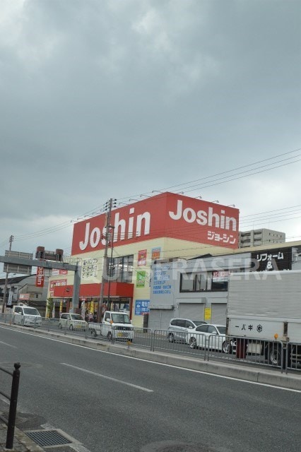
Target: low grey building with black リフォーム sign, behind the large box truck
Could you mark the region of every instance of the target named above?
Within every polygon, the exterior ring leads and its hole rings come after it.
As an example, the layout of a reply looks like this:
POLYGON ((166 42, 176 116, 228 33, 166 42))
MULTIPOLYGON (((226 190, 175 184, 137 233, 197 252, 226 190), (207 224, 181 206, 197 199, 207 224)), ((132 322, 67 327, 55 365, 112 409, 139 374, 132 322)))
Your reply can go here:
POLYGON ((234 250, 220 256, 155 261, 148 326, 165 330, 173 318, 225 325, 230 273, 300 268, 301 242, 256 247, 244 253, 234 250))

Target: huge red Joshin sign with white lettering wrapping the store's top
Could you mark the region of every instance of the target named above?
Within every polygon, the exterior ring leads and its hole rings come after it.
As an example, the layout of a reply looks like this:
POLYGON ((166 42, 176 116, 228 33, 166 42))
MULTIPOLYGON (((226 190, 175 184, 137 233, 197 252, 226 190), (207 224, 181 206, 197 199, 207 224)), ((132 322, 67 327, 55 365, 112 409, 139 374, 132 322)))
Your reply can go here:
MULTIPOLYGON (((106 214, 78 222, 73 227, 71 254, 105 248, 106 214)), ((239 210, 164 193, 112 210, 114 246, 170 237, 225 248, 238 247, 239 210)))

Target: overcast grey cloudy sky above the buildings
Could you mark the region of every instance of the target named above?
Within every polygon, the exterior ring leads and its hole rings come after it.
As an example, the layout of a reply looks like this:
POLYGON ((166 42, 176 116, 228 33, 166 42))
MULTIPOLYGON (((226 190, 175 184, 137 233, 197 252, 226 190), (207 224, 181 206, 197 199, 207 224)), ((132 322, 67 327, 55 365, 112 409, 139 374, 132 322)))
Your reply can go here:
POLYGON ((165 189, 301 239, 300 25, 300 0, 0 0, 0 254, 68 254, 71 220, 165 189))

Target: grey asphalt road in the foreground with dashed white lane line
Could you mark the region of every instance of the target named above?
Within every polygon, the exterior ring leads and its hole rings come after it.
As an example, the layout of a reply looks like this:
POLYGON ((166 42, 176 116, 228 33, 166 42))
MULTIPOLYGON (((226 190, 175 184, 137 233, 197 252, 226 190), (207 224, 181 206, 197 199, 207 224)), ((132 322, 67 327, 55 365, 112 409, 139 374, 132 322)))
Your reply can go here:
POLYGON ((18 410, 91 452, 153 452, 147 445, 161 441, 218 452, 301 449, 301 393, 61 343, 30 328, 0 326, 0 347, 0 367, 21 364, 18 410))

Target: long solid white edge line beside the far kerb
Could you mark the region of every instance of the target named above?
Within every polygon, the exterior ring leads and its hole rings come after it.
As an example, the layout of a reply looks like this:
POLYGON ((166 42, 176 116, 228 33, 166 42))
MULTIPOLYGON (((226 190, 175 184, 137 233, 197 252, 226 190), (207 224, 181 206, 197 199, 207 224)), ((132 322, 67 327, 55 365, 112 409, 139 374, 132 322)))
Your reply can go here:
MULTIPOLYGON (((12 330, 11 328, 7 328, 6 326, 2 326, 2 325, 0 326, 0 328, 9 329, 11 331, 15 331, 16 333, 35 335, 33 333, 27 333, 25 331, 18 331, 18 330, 15 330, 15 329, 12 330)), ((87 347, 87 345, 71 344, 71 343, 64 342, 64 341, 59 340, 59 339, 47 338, 47 336, 42 336, 41 335, 41 336, 39 336, 39 338, 43 338, 43 339, 46 339, 46 340, 53 340, 54 342, 59 342, 59 343, 63 342, 65 345, 72 345, 73 347, 88 348, 88 350, 91 350, 91 351, 94 351, 94 352, 107 353, 108 355, 119 356, 119 357, 126 358, 126 359, 136 359, 137 361, 148 362, 148 364, 156 364, 158 366, 173 367, 175 369, 180 369, 180 370, 183 370, 183 371, 196 372, 197 374, 216 376, 216 378, 218 378, 218 379, 240 381, 241 383, 247 383, 247 384, 250 383, 250 384, 256 384, 258 386, 266 386, 267 388, 281 389, 282 391, 291 391, 293 393, 301 393, 301 391, 299 389, 283 388, 281 386, 274 386, 272 384, 258 383, 257 381, 236 379, 234 376, 218 375, 218 374, 213 374, 212 372, 205 372, 205 371, 195 370, 195 369, 187 369, 187 367, 173 366, 172 364, 165 364, 163 362, 151 361, 151 359, 143 359, 143 358, 136 358, 136 357, 133 357, 133 356, 119 355, 119 353, 106 352, 105 350, 97 350, 95 348, 87 347)))

